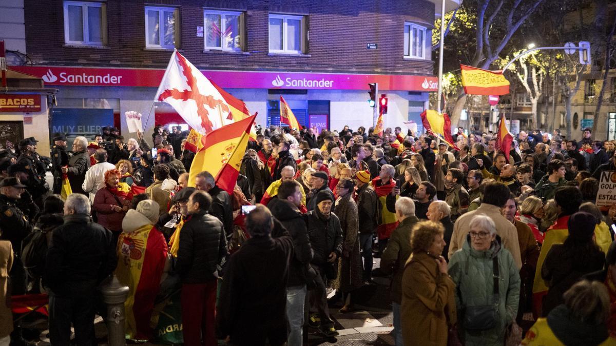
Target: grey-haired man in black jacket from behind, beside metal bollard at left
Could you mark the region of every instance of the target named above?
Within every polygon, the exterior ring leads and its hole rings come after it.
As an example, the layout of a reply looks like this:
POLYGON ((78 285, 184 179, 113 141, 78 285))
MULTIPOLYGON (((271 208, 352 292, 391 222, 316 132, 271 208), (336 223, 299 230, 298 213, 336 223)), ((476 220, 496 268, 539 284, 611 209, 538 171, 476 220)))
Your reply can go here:
POLYGON ((70 345, 71 322, 75 344, 95 345, 96 288, 118 264, 113 235, 90 217, 90 200, 78 193, 64 204, 64 224, 54 230, 47 250, 49 339, 70 345))

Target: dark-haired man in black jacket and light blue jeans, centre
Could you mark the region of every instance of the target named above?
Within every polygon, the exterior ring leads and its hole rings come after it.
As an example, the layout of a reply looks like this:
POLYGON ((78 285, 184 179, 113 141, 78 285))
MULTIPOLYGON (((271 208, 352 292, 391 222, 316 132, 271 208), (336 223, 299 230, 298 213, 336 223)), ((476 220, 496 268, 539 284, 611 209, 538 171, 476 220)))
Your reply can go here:
POLYGON ((306 222, 299 212, 302 203, 301 185, 295 180, 286 180, 278 188, 278 198, 267 204, 272 215, 291 233, 293 258, 289 265, 289 281, 286 284, 286 319, 289 326, 288 343, 302 344, 304 325, 304 300, 306 284, 312 283, 317 273, 310 267, 312 247, 308 239, 306 222))

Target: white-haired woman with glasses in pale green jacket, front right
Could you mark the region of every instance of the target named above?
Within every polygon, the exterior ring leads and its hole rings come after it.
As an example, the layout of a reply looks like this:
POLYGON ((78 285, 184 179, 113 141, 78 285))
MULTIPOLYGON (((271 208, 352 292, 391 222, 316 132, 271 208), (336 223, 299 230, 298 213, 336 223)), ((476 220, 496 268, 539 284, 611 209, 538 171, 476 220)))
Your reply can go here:
POLYGON ((516 318, 520 275, 490 217, 476 215, 469 228, 449 262, 457 286, 458 326, 466 345, 503 345, 516 318))

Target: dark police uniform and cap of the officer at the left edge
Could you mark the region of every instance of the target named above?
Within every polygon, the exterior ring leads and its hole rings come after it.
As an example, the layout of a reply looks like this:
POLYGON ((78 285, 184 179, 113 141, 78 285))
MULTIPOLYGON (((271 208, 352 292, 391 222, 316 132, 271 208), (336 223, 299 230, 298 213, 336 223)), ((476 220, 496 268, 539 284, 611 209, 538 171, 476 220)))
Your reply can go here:
MULTIPOLYGON (((0 187, 25 188, 15 177, 4 178, 0 187)), ((28 218, 17 207, 17 200, 0 194, 0 239, 10 241, 13 246, 13 267, 10 270, 10 278, 13 284, 12 294, 24 294, 26 291, 26 274, 20 259, 22 252, 22 240, 31 231, 28 218)))

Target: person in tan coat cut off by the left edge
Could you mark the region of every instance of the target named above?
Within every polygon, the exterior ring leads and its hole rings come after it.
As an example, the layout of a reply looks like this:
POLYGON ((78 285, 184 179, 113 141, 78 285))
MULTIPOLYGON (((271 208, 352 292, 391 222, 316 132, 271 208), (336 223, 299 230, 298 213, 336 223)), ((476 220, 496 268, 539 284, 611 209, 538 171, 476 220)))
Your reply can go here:
POLYGON ((10 241, 0 241, 0 344, 9 344, 9 335, 13 331, 13 313, 7 299, 10 267, 13 265, 13 247, 10 241))

